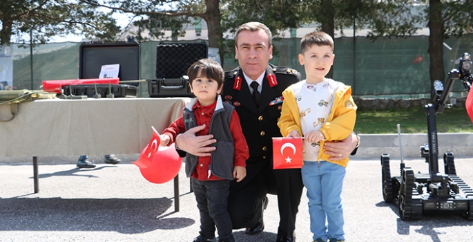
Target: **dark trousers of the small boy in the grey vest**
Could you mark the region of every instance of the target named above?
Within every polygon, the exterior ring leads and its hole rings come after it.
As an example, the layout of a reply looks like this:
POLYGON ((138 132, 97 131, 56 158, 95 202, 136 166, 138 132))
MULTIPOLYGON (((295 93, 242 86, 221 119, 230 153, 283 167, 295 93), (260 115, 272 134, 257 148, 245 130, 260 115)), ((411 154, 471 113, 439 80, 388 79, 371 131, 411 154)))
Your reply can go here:
POLYGON ((200 235, 215 238, 215 226, 219 241, 234 241, 231 219, 226 210, 229 197, 229 180, 192 179, 195 200, 200 212, 200 235))

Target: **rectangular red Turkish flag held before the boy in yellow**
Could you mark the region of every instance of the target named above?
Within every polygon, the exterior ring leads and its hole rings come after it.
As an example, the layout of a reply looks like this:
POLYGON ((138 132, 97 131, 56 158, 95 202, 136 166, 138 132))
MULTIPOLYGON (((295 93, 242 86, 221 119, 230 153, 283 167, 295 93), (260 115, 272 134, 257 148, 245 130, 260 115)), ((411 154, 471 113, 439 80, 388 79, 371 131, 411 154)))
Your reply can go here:
POLYGON ((302 168, 302 138, 273 138, 273 169, 302 168))

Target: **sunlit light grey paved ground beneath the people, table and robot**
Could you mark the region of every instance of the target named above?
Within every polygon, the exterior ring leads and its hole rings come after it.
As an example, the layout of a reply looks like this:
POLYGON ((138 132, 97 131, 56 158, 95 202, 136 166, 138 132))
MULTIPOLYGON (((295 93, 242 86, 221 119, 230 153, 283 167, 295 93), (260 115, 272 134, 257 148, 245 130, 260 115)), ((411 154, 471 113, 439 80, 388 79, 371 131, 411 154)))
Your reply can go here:
MULTIPOLYGON (((391 161, 393 176, 398 176, 398 162, 391 161)), ((470 187, 472 162, 473 158, 455 160, 457 174, 470 187)), ((421 159, 406 163, 414 171, 428 169, 421 159)), ((0 241, 192 241, 199 230, 183 168, 180 212, 174 212, 173 182, 148 183, 129 161, 98 164, 95 169, 76 169, 75 160, 40 162, 39 174, 39 193, 34 194, 32 165, 0 164, 0 241)), ((400 220, 397 207, 383 201, 380 180, 379 160, 349 162, 343 192, 347 241, 473 239, 473 221, 456 214, 400 220)), ((297 241, 311 241, 305 195, 299 211, 297 241)), ((269 196, 264 218, 264 233, 247 236, 235 230, 237 241, 276 240, 276 196, 269 196)))

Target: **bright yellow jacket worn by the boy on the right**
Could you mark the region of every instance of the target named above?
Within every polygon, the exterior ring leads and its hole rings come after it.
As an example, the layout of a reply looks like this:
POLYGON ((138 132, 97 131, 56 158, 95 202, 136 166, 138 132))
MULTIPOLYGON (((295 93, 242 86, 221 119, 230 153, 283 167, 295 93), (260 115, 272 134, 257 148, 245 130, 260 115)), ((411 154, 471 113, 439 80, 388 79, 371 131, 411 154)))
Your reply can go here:
MULTIPOLYGON (((325 140, 329 141, 347 138, 351 131, 353 131, 356 122, 356 104, 351 97, 351 87, 345 86, 341 82, 336 83, 339 87, 335 93, 334 104, 331 107, 329 118, 319 129, 324 134, 325 140)), ((284 137, 287 137, 291 131, 296 130, 302 135, 300 111, 293 89, 289 87, 282 95, 284 95, 284 104, 282 104, 281 118, 278 122, 281 133, 284 137)), ((330 156, 324 153, 323 144, 324 142, 320 141, 318 160, 327 160, 342 167, 347 167, 349 158, 329 160, 330 156)))

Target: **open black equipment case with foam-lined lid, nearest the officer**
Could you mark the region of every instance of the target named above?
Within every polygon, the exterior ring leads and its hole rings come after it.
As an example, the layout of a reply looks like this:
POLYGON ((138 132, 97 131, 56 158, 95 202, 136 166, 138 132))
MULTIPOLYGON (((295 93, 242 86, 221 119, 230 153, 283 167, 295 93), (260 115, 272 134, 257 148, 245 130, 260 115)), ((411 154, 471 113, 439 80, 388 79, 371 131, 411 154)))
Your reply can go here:
POLYGON ((194 97, 189 88, 187 69, 209 56, 205 41, 166 42, 156 47, 156 80, 148 82, 150 97, 194 97))

